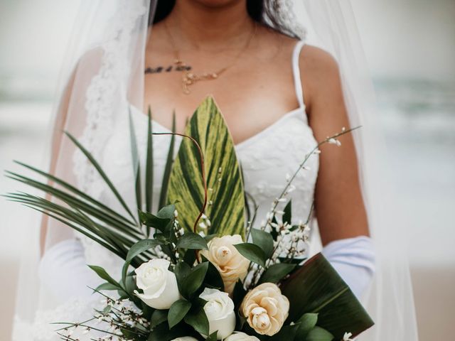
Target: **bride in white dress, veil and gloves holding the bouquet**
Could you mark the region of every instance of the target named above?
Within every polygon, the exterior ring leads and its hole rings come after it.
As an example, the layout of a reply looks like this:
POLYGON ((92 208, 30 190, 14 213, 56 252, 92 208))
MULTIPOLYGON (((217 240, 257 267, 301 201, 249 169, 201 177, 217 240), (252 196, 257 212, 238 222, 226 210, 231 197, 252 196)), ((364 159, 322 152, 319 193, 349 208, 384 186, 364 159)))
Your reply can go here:
MULTIPOLYGON (((245 191, 259 205, 259 219, 265 217, 286 175, 298 168, 316 141, 363 122, 359 117, 365 98, 359 97, 368 89, 356 74, 362 65, 355 64, 361 63, 361 55, 350 44, 357 37, 349 29, 349 4, 311 2, 295 8, 283 0, 85 4, 62 74, 65 86, 55 110, 51 173, 123 210, 62 134, 69 131, 134 207, 129 123, 137 134, 139 164, 144 164, 148 109, 154 132, 169 132, 175 124, 182 133, 186 119, 210 94, 230 128, 245 191), (299 26, 302 21, 306 30, 299 26), (309 43, 311 33, 319 39, 314 45, 309 43)), ((314 201, 312 239, 317 241, 319 231, 321 244, 313 242, 309 251, 322 247, 377 323, 360 340, 417 340, 409 278, 395 277, 400 278, 390 289, 395 296, 388 296, 380 271, 382 244, 373 247, 370 237, 377 224, 365 204, 368 156, 361 153, 367 146, 361 137, 357 132, 346 134, 341 146, 323 146, 310 159, 309 168, 295 180, 292 216, 304 220, 314 201), (402 302, 390 307, 397 297, 402 302)), ((170 137, 153 139, 155 212, 170 137)), ((176 144, 180 142, 176 136, 176 144)), ((114 275, 121 269, 117 256, 45 216, 40 246, 38 308, 27 323, 21 319, 26 307, 18 306, 16 340, 58 340, 52 332, 56 328, 48 323, 90 317, 97 298, 87 285, 96 286, 97 278, 85 264, 103 266, 114 275)))

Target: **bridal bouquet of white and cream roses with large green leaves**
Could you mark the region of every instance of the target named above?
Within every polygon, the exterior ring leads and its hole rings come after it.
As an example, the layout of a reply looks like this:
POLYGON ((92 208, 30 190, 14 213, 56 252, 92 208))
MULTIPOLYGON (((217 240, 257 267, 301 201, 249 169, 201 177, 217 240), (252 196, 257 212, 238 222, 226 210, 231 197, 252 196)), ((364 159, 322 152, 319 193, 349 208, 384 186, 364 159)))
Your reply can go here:
MULTIPOLYGON (((338 136, 346 133, 343 129, 321 141, 296 173, 319 153, 321 144, 339 144, 338 136)), ((61 204, 26 193, 7 195, 11 200, 68 224, 124 259, 122 278, 90 266, 104 282, 93 290, 105 304, 90 320, 65 323, 57 331, 62 340, 80 340, 82 334, 90 335, 87 340, 351 340, 373 325, 321 254, 304 258, 311 213, 306 222, 292 221, 288 197, 296 173, 287 178, 264 223, 255 227, 234 144, 212 98, 205 99, 188 122, 175 161, 172 134, 160 208, 152 214, 151 147, 152 136, 159 134, 151 132, 149 113, 144 189, 139 163, 134 169, 137 212, 70 134, 125 215, 23 163, 59 188, 9 172, 9 177, 53 195, 61 204)), ((133 128, 131 138, 137 161, 133 128)))

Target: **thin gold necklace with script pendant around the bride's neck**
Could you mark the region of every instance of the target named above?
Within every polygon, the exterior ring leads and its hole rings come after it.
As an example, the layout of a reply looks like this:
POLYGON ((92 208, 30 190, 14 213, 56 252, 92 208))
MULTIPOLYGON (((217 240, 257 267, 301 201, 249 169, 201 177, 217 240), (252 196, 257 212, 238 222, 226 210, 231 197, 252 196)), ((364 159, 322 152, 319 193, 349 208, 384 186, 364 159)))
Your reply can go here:
POLYGON ((240 55, 242 55, 245 50, 250 46, 251 40, 255 37, 256 31, 257 31, 257 24, 254 23, 255 28, 252 31, 252 34, 250 38, 248 38, 247 43, 245 44, 245 47, 240 50, 239 53, 235 56, 234 60, 232 60, 232 63, 228 66, 220 68, 220 70, 216 72, 203 72, 202 74, 198 75, 195 72, 188 71, 189 65, 180 58, 180 53, 178 52, 178 49, 176 48, 176 43, 174 42, 171 32, 168 29, 167 23, 164 23, 164 28, 166 29, 166 33, 169 37, 169 41, 172 45, 173 48, 173 54, 174 54, 174 61, 173 64, 176 65, 177 70, 183 70, 183 75, 182 75, 182 91, 184 94, 190 94, 190 86, 195 84, 196 82, 199 82, 200 80, 216 80, 220 75, 228 70, 230 67, 235 65, 237 63, 237 60, 240 58, 240 55))

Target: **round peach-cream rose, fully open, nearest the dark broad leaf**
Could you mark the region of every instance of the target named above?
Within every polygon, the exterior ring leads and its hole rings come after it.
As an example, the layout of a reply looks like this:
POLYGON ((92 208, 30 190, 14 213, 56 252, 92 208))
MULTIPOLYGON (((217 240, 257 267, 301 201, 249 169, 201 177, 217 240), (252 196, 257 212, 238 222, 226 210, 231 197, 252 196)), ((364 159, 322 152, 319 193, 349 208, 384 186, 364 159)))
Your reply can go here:
POLYGON ((256 332, 272 336, 282 329, 287 319, 289 300, 276 284, 262 283, 243 298, 240 312, 256 332))

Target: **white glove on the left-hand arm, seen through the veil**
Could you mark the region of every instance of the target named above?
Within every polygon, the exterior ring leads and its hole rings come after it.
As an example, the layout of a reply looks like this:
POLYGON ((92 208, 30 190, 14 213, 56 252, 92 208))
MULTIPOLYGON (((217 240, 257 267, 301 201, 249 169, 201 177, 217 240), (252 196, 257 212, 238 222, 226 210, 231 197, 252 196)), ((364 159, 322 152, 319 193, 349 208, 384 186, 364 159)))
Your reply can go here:
POLYGON ((90 298, 100 279, 85 264, 84 247, 78 239, 67 239, 45 251, 39 264, 41 283, 59 301, 90 298))

